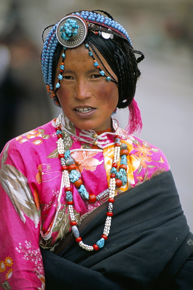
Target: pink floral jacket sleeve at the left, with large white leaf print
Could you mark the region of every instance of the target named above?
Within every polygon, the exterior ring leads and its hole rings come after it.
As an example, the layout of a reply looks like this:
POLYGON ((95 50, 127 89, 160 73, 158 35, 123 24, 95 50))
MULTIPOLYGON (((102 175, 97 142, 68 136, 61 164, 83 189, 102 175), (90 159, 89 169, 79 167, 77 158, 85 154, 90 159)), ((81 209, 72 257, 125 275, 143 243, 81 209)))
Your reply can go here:
POLYGON ((21 170, 22 157, 10 148, 8 144, 1 153, 0 286, 41 290, 45 289, 45 278, 39 249, 40 214, 25 168, 21 170))

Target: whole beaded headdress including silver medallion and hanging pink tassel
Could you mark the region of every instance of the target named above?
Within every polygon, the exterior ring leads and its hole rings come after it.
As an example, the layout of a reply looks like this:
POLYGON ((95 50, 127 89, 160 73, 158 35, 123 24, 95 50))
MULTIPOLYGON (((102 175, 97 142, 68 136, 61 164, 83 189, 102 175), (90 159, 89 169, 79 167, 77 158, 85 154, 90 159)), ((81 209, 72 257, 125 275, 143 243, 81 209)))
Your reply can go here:
MULTIPOLYGON (((108 13, 104 12, 108 16, 108 13)), ((42 56, 41 56, 41 64, 42 64, 42 72, 43 72, 43 79, 47 87, 48 94, 52 98, 53 102, 60 106, 59 99, 56 95, 57 89, 60 87, 60 81, 63 78, 62 72, 64 69, 64 59, 65 59, 65 50, 67 48, 75 48, 81 44, 85 44, 85 47, 88 48, 88 54, 93 58, 94 66, 99 68, 99 73, 106 77, 107 81, 113 81, 118 86, 118 82, 114 79, 114 77, 108 72, 105 68, 106 72, 109 76, 105 75, 105 71, 102 70, 94 58, 92 51, 97 55, 98 59, 101 61, 99 55, 97 54, 94 47, 91 45, 89 41, 85 41, 88 32, 92 32, 96 35, 96 37, 102 37, 103 39, 113 39, 114 35, 119 35, 126 41, 129 46, 132 48, 132 43, 130 37, 123 26, 110 17, 104 17, 102 14, 97 14, 94 11, 81 11, 69 14, 62 18, 58 23, 56 23, 52 29, 50 30, 48 36, 45 39, 42 56), (55 51, 58 45, 63 46, 63 53, 62 53, 62 61, 60 66, 60 74, 58 76, 58 82, 56 84, 56 89, 54 90, 53 82, 53 59, 55 51), (91 51, 91 49, 92 51, 91 51)), ((51 27, 51 26, 49 26, 51 27)), ((49 28, 47 27, 47 28, 49 28)), ((45 28, 45 30, 47 29, 45 28)), ((45 31, 44 30, 44 31, 45 31)), ((134 50, 133 50, 134 51, 134 50)), ((134 51, 139 53, 139 51, 134 51)), ((144 56, 142 53, 141 57, 136 60, 136 62, 141 61, 144 56)), ((101 62, 102 63, 102 62, 101 62)), ((103 64, 103 63, 102 63, 103 64)), ((110 65, 110 64, 109 64, 110 65)), ((134 73, 136 75, 136 73, 134 73)), ((125 105, 125 107, 128 105, 125 105)), ((137 106, 136 101, 133 99, 132 102, 129 104, 130 110, 130 117, 129 117, 129 124, 127 126, 128 133, 133 133, 134 131, 142 128, 141 122, 141 114, 139 108, 137 106)))

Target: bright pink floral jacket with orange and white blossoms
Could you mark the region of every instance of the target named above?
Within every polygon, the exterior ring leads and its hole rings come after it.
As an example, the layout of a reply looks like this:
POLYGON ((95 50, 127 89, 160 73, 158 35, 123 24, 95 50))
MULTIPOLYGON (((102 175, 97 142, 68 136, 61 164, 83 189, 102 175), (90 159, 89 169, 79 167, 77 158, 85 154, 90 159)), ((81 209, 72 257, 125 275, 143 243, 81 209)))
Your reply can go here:
MULTIPOLYGON (((65 149, 70 150, 87 191, 97 195, 107 189, 115 134, 103 133, 101 149, 92 149, 94 131, 81 131, 66 117, 61 126, 65 149)), ((158 148, 119 130, 130 153, 128 182, 122 191, 169 170, 158 148)), ((45 289, 39 245, 53 249, 71 230, 55 120, 8 142, 1 153, 0 173, 0 289, 45 289)), ((104 202, 89 204, 74 186, 72 192, 77 221, 104 202)))

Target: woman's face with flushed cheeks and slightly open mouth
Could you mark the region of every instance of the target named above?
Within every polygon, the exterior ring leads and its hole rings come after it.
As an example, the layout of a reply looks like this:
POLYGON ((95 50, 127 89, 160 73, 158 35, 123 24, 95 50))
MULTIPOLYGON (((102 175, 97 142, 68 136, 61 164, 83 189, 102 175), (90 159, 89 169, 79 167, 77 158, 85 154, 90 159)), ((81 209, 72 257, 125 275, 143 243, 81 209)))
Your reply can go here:
MULTIPOLYGON (((94 57, 100 68, 105 71, 99 59, 95 55, 94 57)), ((100 53, 99 57, 111 75, 118 80, 100 53)), ((55 85, 58 82, 61 61, 62 56, 56 68, 55 85)), ((99 74, 99 69, 93 65, 93 59, 84 44, 66 50, 64 70, 61 75, 63 79, 60 81, 57 97, 68 119, 83 130, 102 131, 110 128, 110 116, 119 98, 118 87, 99 74)), ((106 71, 105 75, 108 76, 106 71)))

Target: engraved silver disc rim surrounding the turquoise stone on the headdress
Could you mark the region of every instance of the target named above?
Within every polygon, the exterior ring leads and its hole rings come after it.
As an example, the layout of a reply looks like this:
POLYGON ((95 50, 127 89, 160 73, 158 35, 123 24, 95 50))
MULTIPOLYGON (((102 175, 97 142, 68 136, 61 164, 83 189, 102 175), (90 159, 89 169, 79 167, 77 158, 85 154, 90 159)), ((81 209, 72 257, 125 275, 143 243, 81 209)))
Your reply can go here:
POLYGON ((83 18, 81 18, 78 15, 68 15, 59 21, 58 26, 56 28, 56 37, 62 46, 66 48, 75 48, 83 43, 83 41, 86 38, 87 32, 88 32, 88 26, 86 24, 86 21, 83 18), (65 25, 68 19, 76 20, 79 28, 78 28, 77 35, 70 37, 68 40, 64 40, 60 35, 61 34, 60 29, 62 26, 65 25))

